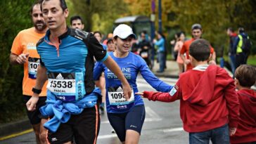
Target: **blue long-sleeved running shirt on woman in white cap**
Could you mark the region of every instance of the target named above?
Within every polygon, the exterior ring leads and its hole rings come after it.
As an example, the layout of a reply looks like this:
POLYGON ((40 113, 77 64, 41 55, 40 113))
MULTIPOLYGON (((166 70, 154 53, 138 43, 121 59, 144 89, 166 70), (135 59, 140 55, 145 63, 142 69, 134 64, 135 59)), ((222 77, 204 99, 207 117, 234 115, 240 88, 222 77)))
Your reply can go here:
POLYGON ((139 72, 141 72, 142 77, 157 91, 169 92, 172 86, 166 84, 165 82, 155 77, 155 75, 149 70, 148 65, 145 60, 139 55, 129 52, 125 58, 116 58, 113 52, 109 55, 115 60, 117 65, 119 65, 120 70, 122 70, 124 77, 126 77, 129 84, 132 86, 134 101, 124 101, 121 98, 122 95, 122 84, 119 79, 108 70, 103 63, 96 63, 94 66, 94 79, 101 76, 101 72, 105 74, 105 88, 106 88, 106 106, 107 112, 110 113, 123 113, 128 112, 131 107, 135 105, 143 105, 143 100, 141 96, 135 95, 138 92, 136 78, 139 72))

